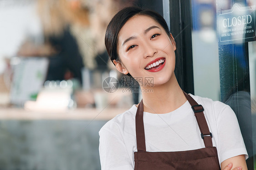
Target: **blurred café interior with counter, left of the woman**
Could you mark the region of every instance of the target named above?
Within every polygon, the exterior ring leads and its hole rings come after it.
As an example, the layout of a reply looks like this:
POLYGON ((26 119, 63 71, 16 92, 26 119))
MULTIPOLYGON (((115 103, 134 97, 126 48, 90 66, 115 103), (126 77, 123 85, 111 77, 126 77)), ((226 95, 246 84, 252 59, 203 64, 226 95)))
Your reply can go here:
POLYGON ((100 170, 98 131, 139 98, 104 44, 131 5, 163 14, 157 0, 0 0, 0 170, 100 170))

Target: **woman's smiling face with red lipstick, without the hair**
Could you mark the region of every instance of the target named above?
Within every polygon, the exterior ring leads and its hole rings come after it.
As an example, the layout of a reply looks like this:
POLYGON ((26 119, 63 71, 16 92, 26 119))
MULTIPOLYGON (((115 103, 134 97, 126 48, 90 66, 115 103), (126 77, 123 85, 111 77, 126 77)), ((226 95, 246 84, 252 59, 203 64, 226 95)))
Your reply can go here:
POLYGON ((117 52, 122 66, 116 64, 117 69, 135 79, 153 77, 154 85, 166 83, 175 67, 176 46, 170 36, 152 18, 133 16, 119 32, 117 52))

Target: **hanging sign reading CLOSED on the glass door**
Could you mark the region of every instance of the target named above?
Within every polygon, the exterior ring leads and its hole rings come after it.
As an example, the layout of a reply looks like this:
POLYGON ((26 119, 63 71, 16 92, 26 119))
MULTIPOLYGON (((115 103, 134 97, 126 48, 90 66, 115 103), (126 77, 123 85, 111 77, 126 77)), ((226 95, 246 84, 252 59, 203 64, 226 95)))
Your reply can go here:
POLYGON ((221 11, 218 28, 220 45, 256 40, 255 6, 235 4, 231 10, 221 11))

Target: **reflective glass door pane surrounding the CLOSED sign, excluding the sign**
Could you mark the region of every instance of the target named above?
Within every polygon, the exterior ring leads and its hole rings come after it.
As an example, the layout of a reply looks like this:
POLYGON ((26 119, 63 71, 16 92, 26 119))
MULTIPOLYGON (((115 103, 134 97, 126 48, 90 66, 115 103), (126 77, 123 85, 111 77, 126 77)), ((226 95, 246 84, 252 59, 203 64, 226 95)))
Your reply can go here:
MULTIPOLYGON (((218 14, 235 3, 255 5, 254 0, 192 0, 192 46, 195 95, 220 100, 236 113, 253 169, 255 155, 255 41, 221 45, 218 14), (202 73, 200 70, 205 70, 202 73)), ((244 37, 242 37, 244 38, 244 37)))

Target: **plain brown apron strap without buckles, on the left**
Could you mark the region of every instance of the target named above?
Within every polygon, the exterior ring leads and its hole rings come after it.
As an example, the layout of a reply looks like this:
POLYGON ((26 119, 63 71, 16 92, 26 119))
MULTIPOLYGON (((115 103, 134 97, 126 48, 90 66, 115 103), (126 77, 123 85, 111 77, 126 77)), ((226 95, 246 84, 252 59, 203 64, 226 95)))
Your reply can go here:
POLYGON ((136 125, 136 140, 138 151, 146 152, 145 132, 143 123, 143 100, 138 105, 138 109, 135 116, 136 125))

